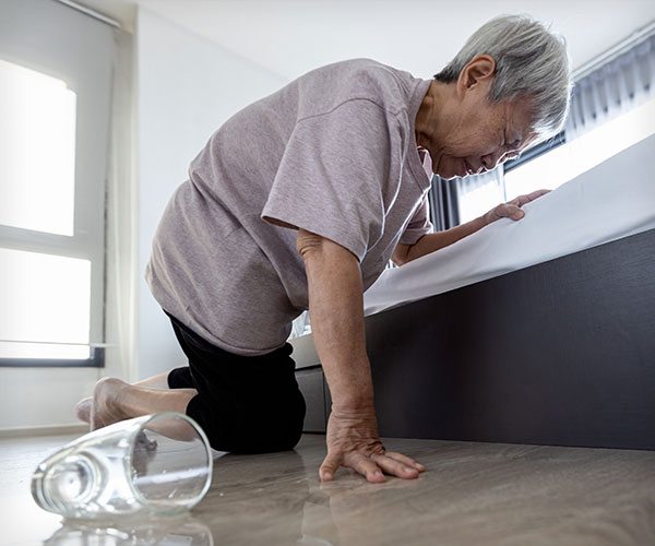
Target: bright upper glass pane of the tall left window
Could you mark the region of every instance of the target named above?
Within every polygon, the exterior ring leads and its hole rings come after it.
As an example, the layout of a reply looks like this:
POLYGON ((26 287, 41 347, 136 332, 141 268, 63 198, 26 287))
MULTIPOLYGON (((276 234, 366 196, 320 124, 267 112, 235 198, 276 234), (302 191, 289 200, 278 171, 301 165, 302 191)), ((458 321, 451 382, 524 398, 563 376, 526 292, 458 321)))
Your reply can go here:
POLYGON ((73 235, 75 102, 66 82, 0 59, 0 224, 73 235))

